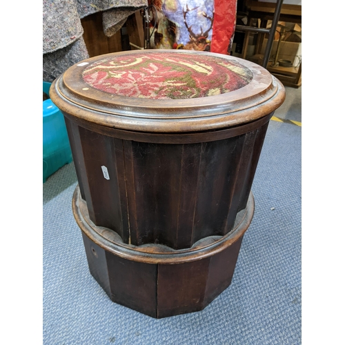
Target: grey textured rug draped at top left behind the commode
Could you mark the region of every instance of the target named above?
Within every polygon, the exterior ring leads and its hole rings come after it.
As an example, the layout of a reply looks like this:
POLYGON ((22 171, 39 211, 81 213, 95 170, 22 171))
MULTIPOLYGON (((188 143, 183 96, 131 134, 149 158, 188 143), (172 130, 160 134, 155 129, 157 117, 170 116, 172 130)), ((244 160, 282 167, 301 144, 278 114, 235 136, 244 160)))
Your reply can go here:
POLYGON ((43 81, 52 82, 89 57, 82 18, 103 12, 103 32, 111 37, 130 14, 145 6, 143 0, 43 0, 43 81))

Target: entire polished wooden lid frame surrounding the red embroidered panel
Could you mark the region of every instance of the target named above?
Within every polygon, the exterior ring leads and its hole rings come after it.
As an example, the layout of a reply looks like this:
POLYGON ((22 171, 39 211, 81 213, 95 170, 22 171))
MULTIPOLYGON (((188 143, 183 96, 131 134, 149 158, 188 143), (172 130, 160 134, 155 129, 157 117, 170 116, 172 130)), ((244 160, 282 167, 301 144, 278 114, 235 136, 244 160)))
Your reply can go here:
MULTIPOLYGON (((157 50, 145 52, 157 53, 157 50)), ((101 126, 143 132, 197 132, 239 126, 273 112, 285 99, 282 83, 256 63, 193 50, 159 52, 204 54, 233 60, 249 68, 253 79, 233 92, 194 99, 124 97, 97 90, 83 81, 81 75, 89 63, 111 55, 142 54, 140 50, 130 50, 92 57, 68 68, 52 83, 50 97, 61 110, 80 119, 101 126)))

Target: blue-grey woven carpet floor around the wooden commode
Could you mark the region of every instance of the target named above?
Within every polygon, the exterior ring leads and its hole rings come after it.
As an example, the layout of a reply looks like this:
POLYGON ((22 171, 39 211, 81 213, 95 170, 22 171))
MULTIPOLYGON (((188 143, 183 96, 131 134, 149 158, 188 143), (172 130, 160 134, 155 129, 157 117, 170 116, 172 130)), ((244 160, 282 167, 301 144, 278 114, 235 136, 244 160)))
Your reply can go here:
POLYGON ((74 165, 55 172, 43 184, 43 343, 301 344, 301 130, 270 121, 232 284, 204 311, 165 319, 111 302, 90 275, 74 165))

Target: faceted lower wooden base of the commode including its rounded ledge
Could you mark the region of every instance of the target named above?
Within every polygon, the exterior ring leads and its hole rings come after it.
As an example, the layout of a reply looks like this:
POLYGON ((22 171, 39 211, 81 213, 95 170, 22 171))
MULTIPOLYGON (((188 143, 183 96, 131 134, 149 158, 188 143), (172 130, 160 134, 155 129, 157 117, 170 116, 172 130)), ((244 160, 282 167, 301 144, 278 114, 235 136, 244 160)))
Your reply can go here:
POLYGON ((73 195, 91 275, 113 302, 151 317, 201 311, 231 283, 242 238, 254 214, 250 193, 228 235, 210 236, 192 248, 125 244, 114 231, 95 226, 81 199, 73 195))

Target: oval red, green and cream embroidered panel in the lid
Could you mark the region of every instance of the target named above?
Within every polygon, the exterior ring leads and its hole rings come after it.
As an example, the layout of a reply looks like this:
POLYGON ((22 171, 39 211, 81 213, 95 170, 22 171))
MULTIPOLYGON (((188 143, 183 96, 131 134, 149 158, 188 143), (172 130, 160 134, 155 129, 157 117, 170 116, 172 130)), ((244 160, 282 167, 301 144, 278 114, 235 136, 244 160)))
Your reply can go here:
POLYGON ((143 53, 92 63, 83 80, 103 92, 148 99, 189 99, 221 95, 243 88, 253 73, 220 57, 143 53))

